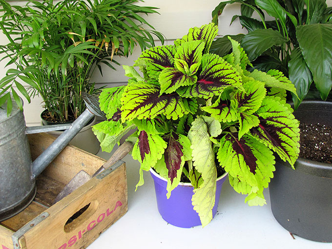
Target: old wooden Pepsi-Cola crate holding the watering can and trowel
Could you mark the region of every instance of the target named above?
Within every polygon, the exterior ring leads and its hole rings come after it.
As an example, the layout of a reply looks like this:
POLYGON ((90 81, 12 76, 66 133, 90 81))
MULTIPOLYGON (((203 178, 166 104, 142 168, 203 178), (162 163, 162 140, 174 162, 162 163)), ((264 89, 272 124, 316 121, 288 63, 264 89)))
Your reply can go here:
MULTIPOLYGON (((54 138, 29 135, 34 160, 54 138)), ((125 163, 118 161, 52 205, 81 169, 92 175, 105 160, 68 145, 36 181, 34 201, 0 222, 0 249, 84 249, 127 211, 125 163)))

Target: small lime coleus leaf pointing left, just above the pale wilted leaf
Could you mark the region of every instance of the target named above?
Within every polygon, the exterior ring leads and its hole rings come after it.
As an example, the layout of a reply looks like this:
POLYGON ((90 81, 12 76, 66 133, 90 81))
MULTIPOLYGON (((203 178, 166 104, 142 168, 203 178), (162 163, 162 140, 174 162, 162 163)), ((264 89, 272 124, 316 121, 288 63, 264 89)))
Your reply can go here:
POLYGON ((229 123, 237 121, 237 111, 234 109, 228 100, 222 100, 219 97, 212 105, 201 107, 202 110, 211 114, 219 122, 229 123))

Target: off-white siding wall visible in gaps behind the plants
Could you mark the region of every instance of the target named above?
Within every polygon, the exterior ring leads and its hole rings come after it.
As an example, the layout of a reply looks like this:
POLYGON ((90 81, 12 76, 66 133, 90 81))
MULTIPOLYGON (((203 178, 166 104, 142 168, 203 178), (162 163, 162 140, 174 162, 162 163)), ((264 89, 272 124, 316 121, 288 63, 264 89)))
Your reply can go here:
MULTIPOLYGON (((162 32, 166 37, 166 43, 172 44, 177 38, 181 38, 190 27, 201 26, 211 21, 211 12, 219 4, 220 0, 145 0, 138 4, 144 6, 158 7, 158 14, 152 14, 146 17, 146 20, 152 24, 156 30, 162 32)), ((18 2, 11 2, 17 4, 18 2)), ((20 2, 22 3, 22 2, 20 2)), ((227 6, 224 10, 223 16, 219 18, 219 34, 238 34, 244 32, 238 22, 234 22, 229 26, 231 17, 235 14, 240 14, 238 5, 227 6)), ((6 38, 0 33, 0 44, 5 44, 6 38)), ((132 65, 133 61, 138 58, 141 51, 136 47, 132 56, 128 58, 119 58, 115 56, 114 59, 121 64, 132 65)), ((0 78, 5 76, 7 68, 4 69, 5 62, 0 62, 0 78)), ((124 70, 118 66, 117 70, 111 70, 103 67, 102 77, 98 71, 92 76, 92 81, 97 83, 97 86, 108 85, 114 86, 126 82, 124 70)), ((26 102, 26 101, 25 101, 26 102)), ((42 100, 35 97, 30 104, 24 103, 24 115, 27 125, 40 125, 40 113, 42 112, 42 100)))

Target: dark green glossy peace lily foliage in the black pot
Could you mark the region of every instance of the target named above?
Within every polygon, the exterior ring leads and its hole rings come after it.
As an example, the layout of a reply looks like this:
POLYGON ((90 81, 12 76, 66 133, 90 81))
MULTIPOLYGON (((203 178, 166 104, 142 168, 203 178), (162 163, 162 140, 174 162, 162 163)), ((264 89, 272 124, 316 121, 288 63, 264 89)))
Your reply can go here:
MULTIPOLYGON (((218 25, 224 8, 228 4, 238 4, 241 15, 234 15, 232 21, 239 19, 248 34, 231 37, 241 42, 254 68, 265 72, 270 68, 278 69, 290 78, 296 87, 297 94, 292 94, 296 109, 305 98, 331 100, 332 7, 326 2, 222 1, 212 11, 212 21, 218 25)), ((217 39, 211 51, 223 56, 230 49, 227 42, 225 36, 217 39)))

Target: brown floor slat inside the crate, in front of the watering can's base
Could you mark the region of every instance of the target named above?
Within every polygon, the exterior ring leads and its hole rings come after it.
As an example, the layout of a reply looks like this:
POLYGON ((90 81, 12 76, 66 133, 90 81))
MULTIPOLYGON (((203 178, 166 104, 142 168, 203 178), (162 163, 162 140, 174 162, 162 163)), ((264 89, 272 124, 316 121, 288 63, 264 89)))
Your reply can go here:
POLYGON ((28 207, 17 215, 2 221, 0 224, 8 229, 17 231, 23 227, 26 223, 33 220, 35 217, 40 215, 47 208, 42 206, 40 203, 33 201, 28 207))

